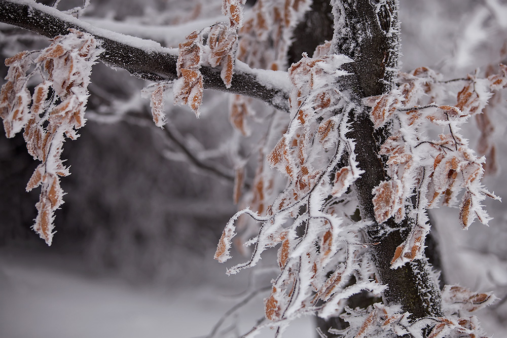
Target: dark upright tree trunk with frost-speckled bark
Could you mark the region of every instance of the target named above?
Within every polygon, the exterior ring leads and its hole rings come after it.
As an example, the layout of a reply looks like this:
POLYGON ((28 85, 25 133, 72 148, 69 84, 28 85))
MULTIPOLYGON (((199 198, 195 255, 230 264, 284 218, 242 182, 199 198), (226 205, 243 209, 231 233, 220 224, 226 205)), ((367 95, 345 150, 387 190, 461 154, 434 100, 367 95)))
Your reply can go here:
MULTIPOLYGON (((345 54, 354 62, 347 65, 354 76, 348 85, 356 99, 381 95, 394 84, 397 68, 399 36, 397 1, 343 0, 334 2, 336 53, 345 54)), ((389 177, 384 170, 379 148, 386 139, 385 130, 374 130, 369 111, 356 112, 349 136, 356 140, 356 160, 366 172, 355 182, 363 219, 375 220, 373 189, 389 177)), ((416 259, 411 264, 391 269, 396 248, 404 242, 413 227, 408 216, 401 224, 392 218, 368 230, 372 256, 380 281, 387 284, 384 302, 401 305, 413 319, 442 316, 442 299, 438 285, 431 277, 427 259, 416 259), (387 234, 387 235, 386 235, 387 234)))

